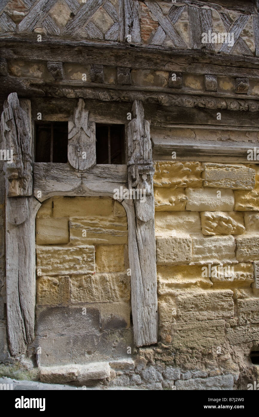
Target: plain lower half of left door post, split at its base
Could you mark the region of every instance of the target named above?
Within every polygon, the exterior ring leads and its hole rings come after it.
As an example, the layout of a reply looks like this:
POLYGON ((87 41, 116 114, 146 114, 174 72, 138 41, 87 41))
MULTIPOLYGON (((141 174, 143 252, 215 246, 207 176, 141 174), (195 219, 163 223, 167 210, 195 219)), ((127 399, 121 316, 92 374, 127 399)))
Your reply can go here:
POLYGON ((35 215, 39 207, 40 203, 34 197, 6 199, 7 332, 13 356, 25 353, 26 344, 34 339, 34 236, 35 215))

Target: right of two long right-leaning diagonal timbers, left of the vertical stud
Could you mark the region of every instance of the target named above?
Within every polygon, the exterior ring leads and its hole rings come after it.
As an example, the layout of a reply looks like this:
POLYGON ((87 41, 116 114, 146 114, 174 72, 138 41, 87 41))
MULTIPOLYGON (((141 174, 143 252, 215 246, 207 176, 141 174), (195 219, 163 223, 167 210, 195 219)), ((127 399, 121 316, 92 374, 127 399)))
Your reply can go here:
POLYGON ((67 25, 63 30, 63 35, 74 35, 74 33, 87 23, 87 20, 103 3, 104 0, 87 0, 87 2, 78 10, 74 18, 67 22, 67 25))

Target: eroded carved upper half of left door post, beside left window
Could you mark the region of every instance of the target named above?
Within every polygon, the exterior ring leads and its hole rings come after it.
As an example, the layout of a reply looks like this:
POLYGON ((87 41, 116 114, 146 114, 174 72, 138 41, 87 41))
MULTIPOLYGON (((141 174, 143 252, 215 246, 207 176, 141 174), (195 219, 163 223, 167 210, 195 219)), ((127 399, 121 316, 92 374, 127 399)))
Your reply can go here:
POLYGON ((32 127, 30 100, 19 103, 17 93, 8 95, 1 116, 1 132, 5 149, 12 151, 5 162, 7 196, 32 195, 32 127))

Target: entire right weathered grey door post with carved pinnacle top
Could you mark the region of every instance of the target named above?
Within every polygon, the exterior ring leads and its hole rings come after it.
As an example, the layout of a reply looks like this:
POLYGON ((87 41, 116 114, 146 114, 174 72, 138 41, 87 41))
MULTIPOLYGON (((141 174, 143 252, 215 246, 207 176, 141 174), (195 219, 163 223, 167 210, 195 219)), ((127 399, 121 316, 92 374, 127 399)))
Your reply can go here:
MULTIPOLYGON (((128 186, 146 190, 146 201, 123 202, 128 213, 131 305, 136 345, 154 344, 158 339, 158 301, 155 256, 155 219, 149 122, 143 104, 135 100, 134 119, 128 123, 128 186)), ((143 194, 142 194, 143 195, 143 194)))

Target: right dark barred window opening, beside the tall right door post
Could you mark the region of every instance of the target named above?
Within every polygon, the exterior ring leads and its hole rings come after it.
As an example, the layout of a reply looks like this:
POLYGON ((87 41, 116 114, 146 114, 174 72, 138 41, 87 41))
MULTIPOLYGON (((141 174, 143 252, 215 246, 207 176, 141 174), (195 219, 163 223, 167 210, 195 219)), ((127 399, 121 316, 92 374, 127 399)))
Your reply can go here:
POLYGON ((125 163, 124 125, 96 123, 96 163, 125 163))

